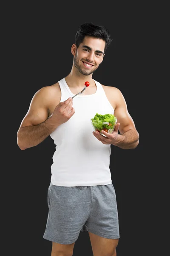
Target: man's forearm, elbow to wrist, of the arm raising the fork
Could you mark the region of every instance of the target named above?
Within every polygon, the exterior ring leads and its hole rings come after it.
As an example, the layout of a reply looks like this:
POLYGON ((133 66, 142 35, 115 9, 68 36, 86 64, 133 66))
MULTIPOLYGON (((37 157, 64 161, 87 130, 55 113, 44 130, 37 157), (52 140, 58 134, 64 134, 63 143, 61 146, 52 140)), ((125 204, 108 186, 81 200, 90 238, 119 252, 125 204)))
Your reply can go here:
POLYGON ((17 144, 20 149, 34 147, 45 140, 56 128, 57 124, 48 118, 39 125, 21 127, 17 133, 17 144))

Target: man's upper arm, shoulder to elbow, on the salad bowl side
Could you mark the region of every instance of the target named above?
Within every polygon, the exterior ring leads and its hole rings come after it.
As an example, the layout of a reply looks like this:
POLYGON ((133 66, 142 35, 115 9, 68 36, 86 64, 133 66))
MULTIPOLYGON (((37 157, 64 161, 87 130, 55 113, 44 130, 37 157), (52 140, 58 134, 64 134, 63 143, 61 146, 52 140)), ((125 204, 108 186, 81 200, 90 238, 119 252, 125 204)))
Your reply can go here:
POLYGON ((118 90, 118 97, 116 102, 116 108, 114 112, 114 116, 117 118, 117 122, 120 123, 119 132, 123 134, 125 131, 129 129, 136 130, 135 123, 130 116, 130 113, 127 110, 127 104, 125 102, 125 98, 122 93, 118 90))

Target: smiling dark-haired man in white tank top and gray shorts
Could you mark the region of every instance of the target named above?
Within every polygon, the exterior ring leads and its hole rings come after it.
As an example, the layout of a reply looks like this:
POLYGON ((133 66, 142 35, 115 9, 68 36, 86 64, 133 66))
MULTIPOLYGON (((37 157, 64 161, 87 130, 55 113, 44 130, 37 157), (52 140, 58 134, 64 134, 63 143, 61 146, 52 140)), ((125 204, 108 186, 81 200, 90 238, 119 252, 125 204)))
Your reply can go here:
POLYGON ((104 26, 82 24, 71 47, 71 72, 35 93, 17 132, 21 150, 49 135, 56 145, 43 236, 52 241, 51 256, 73 255, 80 231, 88 231, 94 256, 116 256, 119 222, 109 169, 111 145, 136 148, 139 133, 120 90, 92 79, 111 41, 104 26), (72 99, 86 81, 90 85, 84 93, 72 99), (116 116, 112 134, 94 132, 90 119, 96 113, 116 116))

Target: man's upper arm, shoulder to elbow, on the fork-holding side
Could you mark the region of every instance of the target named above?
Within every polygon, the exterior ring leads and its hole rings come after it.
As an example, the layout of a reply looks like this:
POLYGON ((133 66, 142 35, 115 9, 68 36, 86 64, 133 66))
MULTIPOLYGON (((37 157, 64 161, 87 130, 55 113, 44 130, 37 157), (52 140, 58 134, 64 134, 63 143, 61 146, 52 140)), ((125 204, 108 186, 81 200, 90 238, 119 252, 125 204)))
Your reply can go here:
POLYGON ((33 96, 28 112, 24 116, 20 128, 38 125, 48 119, 47 101, 44 97, 44 89, 40 89, 33 96))

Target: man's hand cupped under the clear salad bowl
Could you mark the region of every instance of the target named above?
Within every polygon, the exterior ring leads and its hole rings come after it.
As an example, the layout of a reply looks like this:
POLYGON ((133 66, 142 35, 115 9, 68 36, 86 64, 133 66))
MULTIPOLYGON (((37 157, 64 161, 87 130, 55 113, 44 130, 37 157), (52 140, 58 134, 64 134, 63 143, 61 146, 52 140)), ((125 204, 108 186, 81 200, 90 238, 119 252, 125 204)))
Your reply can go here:
POLYGON ((112 134, 109 134, 108 132, 102 130, 101 133, 104 134, 106 137, 100 134, 98 131, 93 132, 93 134, 103 144, 114 144, 117 142, 119 126, 120 126, 120 123, 117 123, 115 125, 114 131, 112 134))

